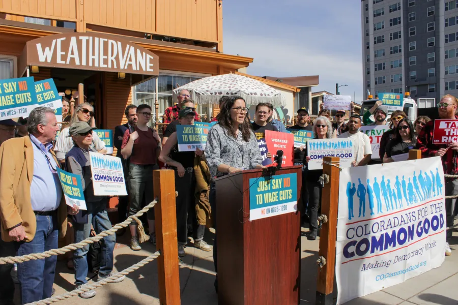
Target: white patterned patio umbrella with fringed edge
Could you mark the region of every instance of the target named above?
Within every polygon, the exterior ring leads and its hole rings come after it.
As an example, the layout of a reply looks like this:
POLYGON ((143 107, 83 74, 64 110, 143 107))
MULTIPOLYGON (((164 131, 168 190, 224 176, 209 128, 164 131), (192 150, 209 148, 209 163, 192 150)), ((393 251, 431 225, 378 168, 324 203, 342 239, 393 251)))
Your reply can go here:
POLYGON ((173 92, 174 100, 181 90, 188 90, 191 99, 197 104, 219 104, 222 96, 238 95, 247 105, 271 103, 274 107, 285 106, 285 97, 281 92, 259 80, 238 74, 223 74, 197 79, 173 92))

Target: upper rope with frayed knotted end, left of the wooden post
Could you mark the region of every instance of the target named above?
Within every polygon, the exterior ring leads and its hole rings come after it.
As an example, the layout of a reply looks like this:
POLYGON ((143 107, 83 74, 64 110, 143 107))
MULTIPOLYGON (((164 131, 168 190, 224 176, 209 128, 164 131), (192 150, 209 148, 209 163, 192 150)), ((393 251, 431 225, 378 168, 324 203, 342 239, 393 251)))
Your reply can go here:
POLYGON ((81 249, 84 246, 89 245, 90 243, 94 243, 96 241, 99 241, 100 239, 102 239, 105 236, 115 234, 115 232, 118 231, 119 229, 125 228, 128 225, 130 225, 132 223, 132 221, 137 222, 137 224, 139 225, 139 229, 140 229, 140 230, 138 230, 138 232, 140 234, 139 241, 140 242, 147 241, 150 236, 145 234, 145 232, 141 230, 142 226, 140 228, 141 222, 138 219, 138 217, 144 215, 145 212, 147 212, 150 208, 154 207, 156 205, 156 203, 157 203, 157 198, 153 202, 151 202, 150 204, 148 204, 147 206, 145 206, 144 208, 139 210, 137 212, 137 214, 135 214, 133 216, 129 216, 124 222, 113 226, 109 230, 102 231, 99 234, 97 234, 96 236, 86 238, 86 239, 84 239, 84 240, 82 240, 80 242, 77 242, 77 243, 71 243, 70 245, 65 246, 63 248, 60 248, 60 249, 51 249, 49 251, 45 251, 45 252, 42 252, 42 253, 33 253, 33 254, 26 254, 26 255, 22 255, 22 256, 14 256, 14 257, 13 256, 0 257, 0 265, 23 263, 23 262, 27 262, 27 261, 30 261, 30 260, 37 260, 37 259, 45 259, 45 258, 53 256, 53 255, 65 254, 65 253, 67 253, 69 251, 73 251, 73 250, 76 250, 76 249, 81 249), (143 232, 143 233, 141 233, 141 232, 143 232))

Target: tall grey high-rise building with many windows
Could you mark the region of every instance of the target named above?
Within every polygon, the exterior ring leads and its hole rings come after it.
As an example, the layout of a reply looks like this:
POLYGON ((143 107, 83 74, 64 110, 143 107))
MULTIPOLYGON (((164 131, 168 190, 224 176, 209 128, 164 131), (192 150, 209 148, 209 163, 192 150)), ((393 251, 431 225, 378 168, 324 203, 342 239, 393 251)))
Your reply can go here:
POLYGON ((458 95, 458 0, 361 0, 361 16, 364 90, 458 95))

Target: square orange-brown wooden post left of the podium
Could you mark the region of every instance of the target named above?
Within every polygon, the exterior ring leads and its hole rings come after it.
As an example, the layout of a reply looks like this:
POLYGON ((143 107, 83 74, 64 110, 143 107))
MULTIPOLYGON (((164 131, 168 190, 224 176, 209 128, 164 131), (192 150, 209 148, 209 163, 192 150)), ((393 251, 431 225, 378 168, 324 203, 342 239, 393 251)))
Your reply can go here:
POLYGON ((180 275, 178 272, 177 209, 175 206, 175 172, 153 171, 154 207, 156 221, 156 249, 159 302, 161 305, 180 305, 180 275))

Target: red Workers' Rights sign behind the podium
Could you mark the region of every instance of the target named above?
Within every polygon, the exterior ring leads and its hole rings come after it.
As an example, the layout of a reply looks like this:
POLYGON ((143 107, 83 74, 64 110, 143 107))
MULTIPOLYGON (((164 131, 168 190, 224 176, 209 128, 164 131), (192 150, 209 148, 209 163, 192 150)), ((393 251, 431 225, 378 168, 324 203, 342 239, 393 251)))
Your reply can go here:
MULTIPOLYGON (((266 130, 267 151, 272 154, 272 162, 277 150, 283 150, 282 166, 293 166, 294 135, 291 133, 266 130)), ((276 166, 274 162, 270 166, 276 166)))

